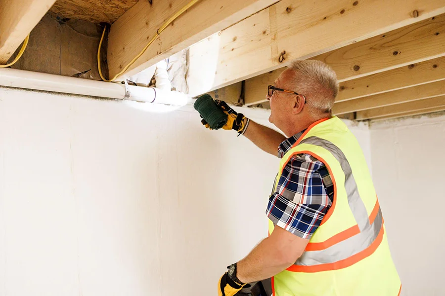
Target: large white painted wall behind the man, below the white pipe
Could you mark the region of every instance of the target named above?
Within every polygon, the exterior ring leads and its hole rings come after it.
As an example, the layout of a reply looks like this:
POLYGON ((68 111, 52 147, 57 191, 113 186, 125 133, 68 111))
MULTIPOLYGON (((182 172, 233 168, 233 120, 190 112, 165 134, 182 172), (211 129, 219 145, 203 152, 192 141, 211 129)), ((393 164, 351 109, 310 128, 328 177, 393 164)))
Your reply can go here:
POLYGON ((267 234, 277 167, 190 106, 0 89, 0 296, 215 295, 267 234))

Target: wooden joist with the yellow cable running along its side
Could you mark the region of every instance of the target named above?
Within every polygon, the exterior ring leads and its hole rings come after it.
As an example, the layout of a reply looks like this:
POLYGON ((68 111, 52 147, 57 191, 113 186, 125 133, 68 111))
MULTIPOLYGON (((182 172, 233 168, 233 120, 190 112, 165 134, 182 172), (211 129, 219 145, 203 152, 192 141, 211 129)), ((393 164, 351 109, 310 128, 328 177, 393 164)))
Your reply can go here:
MULTIPOLYGON (((138 58, 125 79, 260 11, 276 0, 200 0, 178 17, 138 58)), ((107 62, 110 77, 119 73, 141 52, 156 31, 190 0, 142 0, 123 14, 108 37, 107 62)))

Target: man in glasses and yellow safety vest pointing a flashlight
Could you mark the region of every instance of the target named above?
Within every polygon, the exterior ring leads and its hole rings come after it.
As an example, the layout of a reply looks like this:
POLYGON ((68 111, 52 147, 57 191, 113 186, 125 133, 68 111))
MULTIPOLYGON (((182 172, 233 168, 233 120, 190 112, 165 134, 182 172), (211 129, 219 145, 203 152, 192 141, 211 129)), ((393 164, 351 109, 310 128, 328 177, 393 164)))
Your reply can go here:
MULTIPOLYGON (((397 296, 382 213, 356 138, 332 116, 335 72, 291 63, 268 87, 269 121, 287 137, 216 101, 234 129, 281 158, 267 206, 269 237, 229 266, 220 296, 272 277, 276 296, 397 296)), ((205 118, 203 124, 206 124, 205 118)))

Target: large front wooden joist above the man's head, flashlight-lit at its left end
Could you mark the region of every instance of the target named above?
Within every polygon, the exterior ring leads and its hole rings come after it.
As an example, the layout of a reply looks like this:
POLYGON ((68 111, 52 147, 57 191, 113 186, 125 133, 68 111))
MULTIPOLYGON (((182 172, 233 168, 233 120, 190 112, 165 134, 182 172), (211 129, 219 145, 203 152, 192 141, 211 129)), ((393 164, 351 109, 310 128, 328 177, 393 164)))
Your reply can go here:
MULTIPOLYGON (((321 53, 432 18, 443 0, 281 0, 190 48, 190 64, 206 61, 192 94, 286 66, 321 53), (382 13, 384 12, 384 13, 382 13), (218 46, 215 49, 214 43, 218 46)), ((396 50, 396 49, 394 49, 396 50)), ((431 57, 430 57, 431 58, 431 57)), ((260 97, 263 99, 264 95, 260 97)))

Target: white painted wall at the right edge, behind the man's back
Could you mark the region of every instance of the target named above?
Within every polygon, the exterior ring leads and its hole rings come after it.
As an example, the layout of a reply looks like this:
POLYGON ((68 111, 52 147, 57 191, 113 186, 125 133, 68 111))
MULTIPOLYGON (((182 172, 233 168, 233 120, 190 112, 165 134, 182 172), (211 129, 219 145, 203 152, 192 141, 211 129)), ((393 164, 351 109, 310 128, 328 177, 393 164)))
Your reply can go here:
POLYGON ((445 116, 371 125, 374 184, 402 296, 445 295, 445 116))

